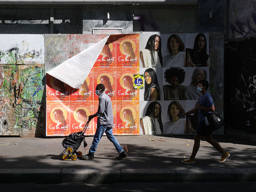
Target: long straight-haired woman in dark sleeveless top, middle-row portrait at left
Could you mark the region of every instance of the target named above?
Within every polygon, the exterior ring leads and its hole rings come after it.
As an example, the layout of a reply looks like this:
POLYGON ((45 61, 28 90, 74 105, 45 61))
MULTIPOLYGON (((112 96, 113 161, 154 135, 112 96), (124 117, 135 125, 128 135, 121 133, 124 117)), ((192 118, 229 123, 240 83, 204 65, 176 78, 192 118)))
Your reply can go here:
POLYGON ((156 72, 152 68, 148 68, 144 72, 144 100, 161 100, 161 91, 159 88, 156 72))

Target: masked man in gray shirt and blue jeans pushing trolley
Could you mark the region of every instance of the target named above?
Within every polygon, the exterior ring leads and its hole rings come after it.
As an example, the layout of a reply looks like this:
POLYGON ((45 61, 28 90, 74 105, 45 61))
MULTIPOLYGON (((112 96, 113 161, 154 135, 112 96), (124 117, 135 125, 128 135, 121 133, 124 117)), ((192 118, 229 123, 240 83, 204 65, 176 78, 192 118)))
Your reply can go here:
POLYGON ((95 94, 99 96, 99 107, 98 111, 94 115, 90 115, 88 120, 90 121, 92 118, 98 116, 97 119, 97 129, 93 137, 92 146, 87 155, 81 156, 85 160, 93 160, 94 152, 97 150, 98 144, 104 132, 107 135, 108 140, 110 140, 119 156, 116 159, 122 159, 127 156, 124 149, 119 145, 115 136, 113 135, 112 127, 114 126, 113 122, 113 109, 112 103, 109 96, 104 92, 105 86, 103 84, 98 84, 95 88, 95 94))

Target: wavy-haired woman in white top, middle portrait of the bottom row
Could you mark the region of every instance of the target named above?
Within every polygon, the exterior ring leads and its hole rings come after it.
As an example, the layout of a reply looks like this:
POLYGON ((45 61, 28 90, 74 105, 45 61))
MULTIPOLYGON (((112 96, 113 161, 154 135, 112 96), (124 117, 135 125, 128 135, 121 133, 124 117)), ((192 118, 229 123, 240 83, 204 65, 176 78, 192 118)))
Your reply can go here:
POLYGON ((172 101, 167 110, 168 122, 164 124, 164 134, 186 134, 186 118, 180 118, 179 113, 185 113, 178 101, 172 101))

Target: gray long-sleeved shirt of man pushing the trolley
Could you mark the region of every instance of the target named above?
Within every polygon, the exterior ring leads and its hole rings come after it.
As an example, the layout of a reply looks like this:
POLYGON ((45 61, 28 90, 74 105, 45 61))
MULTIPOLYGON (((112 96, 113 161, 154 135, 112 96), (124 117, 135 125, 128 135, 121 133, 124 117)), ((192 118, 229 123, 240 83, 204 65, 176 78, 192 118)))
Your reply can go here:
POLYGON ((99 99, 99 108, 96 113, 96 115, 98 116, 97 127, 99 127, 100 125, 113 127, 114 116, 113 116, 112 102, 109 96, 105 92, 102 92, 98 99, 99 99))

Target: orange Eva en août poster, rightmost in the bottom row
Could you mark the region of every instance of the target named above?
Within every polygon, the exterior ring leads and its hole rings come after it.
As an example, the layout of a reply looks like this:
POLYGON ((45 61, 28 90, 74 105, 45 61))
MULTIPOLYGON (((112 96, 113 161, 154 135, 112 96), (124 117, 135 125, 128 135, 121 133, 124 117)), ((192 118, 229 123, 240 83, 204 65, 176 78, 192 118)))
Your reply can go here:
POLYGON ((139 101, 116 103, 116 134, 139 135, 139 101))

